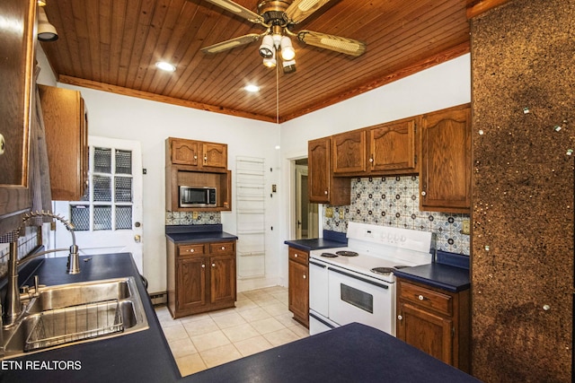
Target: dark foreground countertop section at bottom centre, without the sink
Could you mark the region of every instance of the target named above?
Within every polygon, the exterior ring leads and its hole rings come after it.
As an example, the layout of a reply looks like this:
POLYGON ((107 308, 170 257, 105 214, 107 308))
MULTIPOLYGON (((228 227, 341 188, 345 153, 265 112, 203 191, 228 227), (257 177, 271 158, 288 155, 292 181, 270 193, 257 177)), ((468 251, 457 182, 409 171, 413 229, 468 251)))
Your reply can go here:
POLYGON ((182 379, 200 382, 478 383, 373 327, 352 323, 182 379))

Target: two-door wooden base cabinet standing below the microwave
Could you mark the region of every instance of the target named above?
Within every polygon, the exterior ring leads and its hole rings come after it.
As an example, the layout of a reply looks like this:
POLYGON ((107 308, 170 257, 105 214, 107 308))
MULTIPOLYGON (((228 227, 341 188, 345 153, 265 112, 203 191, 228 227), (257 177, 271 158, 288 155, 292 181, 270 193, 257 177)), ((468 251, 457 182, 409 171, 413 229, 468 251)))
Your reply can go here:
POLYGON ((173 318, 234 307, 235 241, 167 241, 168 309, 173 318))

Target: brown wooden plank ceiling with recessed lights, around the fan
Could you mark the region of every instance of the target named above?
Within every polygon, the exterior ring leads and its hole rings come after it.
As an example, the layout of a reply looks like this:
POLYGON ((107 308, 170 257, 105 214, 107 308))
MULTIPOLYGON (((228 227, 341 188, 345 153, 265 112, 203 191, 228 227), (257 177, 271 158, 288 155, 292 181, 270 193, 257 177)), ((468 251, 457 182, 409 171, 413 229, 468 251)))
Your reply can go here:
MULTIPOLYGON (((236 3, 257 13, 258 1, 236 3)), ((49 0, 45 11, 59 39, 42 48, 61 83, 284 122, 469 52, 469 3, 332 0, 294 30, 359 39, 367 52, 350 57, 292 38, 292 74, 262 65, 260 41, 200 52, 264 31, 202 0, 49 0), (176 72, 157 70, 159 60, 176 72), (261 91, 244 91, 248 83, 261 91)))

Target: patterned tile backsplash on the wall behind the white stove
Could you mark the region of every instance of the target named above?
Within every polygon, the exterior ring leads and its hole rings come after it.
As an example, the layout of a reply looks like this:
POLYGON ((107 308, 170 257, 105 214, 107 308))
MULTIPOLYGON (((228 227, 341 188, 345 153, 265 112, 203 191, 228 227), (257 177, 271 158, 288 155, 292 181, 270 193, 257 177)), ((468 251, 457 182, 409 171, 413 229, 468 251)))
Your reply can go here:
POLYGON ((469 214, 420 212, 418 176, 351 179, 351 205, 332 207, 332 218, 323 217, 323 229, 345 232, 348 222, 366 222, 436 234, 436 248, 470 254, 470 236, 462 234, 469 214), (343 218, 341 218, 343 211, 343 218))

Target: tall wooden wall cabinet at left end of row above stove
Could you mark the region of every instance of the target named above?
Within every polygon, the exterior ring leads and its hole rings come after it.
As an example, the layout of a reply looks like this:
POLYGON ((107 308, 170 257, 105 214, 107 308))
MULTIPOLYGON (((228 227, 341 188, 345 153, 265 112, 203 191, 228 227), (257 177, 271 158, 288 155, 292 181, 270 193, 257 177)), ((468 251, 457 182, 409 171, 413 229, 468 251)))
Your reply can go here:
POLYGON ((332 137, 323 137, 307 143, 308 195, 316 204, 349 205, 351 181, 334 178, 332 171, 332 137))

